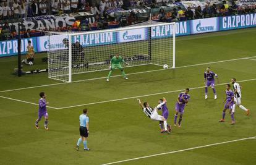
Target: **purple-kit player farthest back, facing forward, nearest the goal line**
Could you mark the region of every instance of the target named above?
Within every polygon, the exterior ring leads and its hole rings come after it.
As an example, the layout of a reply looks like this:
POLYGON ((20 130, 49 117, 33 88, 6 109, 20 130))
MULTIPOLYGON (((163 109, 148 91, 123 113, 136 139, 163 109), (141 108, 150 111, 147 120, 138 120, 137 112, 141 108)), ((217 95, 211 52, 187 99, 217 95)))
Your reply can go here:
POLYGON ((203 75, 204 75, 203 82, 205 83, 205 99, 208 98, 208 96, 207 96, 207 94, 208 94, 208 87, 210 87, 210 86, 213 89, 214 99, 217 99, 216 90, 214 88, 214 82, 215 82, 214 77, 217 78, 218 83, 219 83, 218 75, 215 74, 214 72, 212 72, 210 70, 210 67, 207 67, 207 69, 206 69, 206 71, 205 71, 205 73, 203 75))

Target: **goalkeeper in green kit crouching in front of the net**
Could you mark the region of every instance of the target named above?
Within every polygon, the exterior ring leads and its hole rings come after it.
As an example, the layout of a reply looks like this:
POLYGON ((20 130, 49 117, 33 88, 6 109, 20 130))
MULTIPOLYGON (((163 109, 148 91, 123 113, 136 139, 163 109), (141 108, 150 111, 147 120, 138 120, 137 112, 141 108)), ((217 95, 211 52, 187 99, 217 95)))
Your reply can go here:
POLYGON ((126 65, 129 65, 127 62, 124 61, 124 59, 119 56, 117 53, 116 56, 112 57, 110 61, 109 68, 111 69, 108 74, 107 82, 109 81, 109 77, 111 76, 114 69, 118 68, 121 70, 122 75, 124 75, 124 79, 128 80, 128 77, 126 77, 126 73, 124 72, 124 69, 122 69, 121 63, 124 62, 126 65))

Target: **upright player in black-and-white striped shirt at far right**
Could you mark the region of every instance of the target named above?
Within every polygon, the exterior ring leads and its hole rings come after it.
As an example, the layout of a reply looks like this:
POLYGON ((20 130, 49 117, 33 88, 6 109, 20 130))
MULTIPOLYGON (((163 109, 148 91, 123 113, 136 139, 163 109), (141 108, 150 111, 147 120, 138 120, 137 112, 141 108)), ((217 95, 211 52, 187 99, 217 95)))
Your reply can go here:
MULTIPOLYGON (((239 83, 236 82, 236 78, 231 79, 231 83, 233 83, 233 89, 234 89, 234 101, 237 104, 239 108, 244 110, 246 112, 246 115, 249 115, 249 109, 245 108, 244 106, 241 105, 241 98, 242 98, 242 93, 241 93, 241 86, 239 83)), ((234 113, 236 106, 233 106, 232 112, 234 113)))

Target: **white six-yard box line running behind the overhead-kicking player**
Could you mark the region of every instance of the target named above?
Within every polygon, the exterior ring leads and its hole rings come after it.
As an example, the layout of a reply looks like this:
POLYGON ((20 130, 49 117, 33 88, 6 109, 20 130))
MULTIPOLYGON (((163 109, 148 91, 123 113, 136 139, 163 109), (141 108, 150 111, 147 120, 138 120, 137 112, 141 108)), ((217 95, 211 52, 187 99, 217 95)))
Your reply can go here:
MULTIPOLYGON (((249 81, 254 81, 254 80, 256 80, 256 78, 249 79, 249 80, 241 80, 241 81, 237 81, 237 82, 249 82, 249 81)), ((230 83, 230 82, 227 82, 227 83, 230 83)), ((215 86, 226 85, 227 83, 220 83, 220 84, 216 84, 215 86)), ((199 89, 199 88, 205 88, 205 86, 190 88, 190 90, 195 90, 195 89, 199 89)), ((148 95, 131 96, 131 97, 128 97, 128 98, 110 99, 110 100, 98 101, 98 102, 94 102, 94 103, 79 104, 79 105, 74 105, 74 106, 66 106, 66 107, 61 107, 61 108, 57 108, 57 109, 75 108, 75 107, 79 107, 79 106, 88 106, 88 105, 93 105, 93 104, 101 104, 101 103, 108 103, 108 102, 113 102, 113 101, 121 101, 121 100, 124 100, 124 99, 142 98, 142 97, 145 97, 145 96, 162 95, 162 94, 166 94, 166 93, 174 93, 174 92, 177 92, 177 91, 184 91, 184 89, 182 89, 182 90, 173 90, 173 91, 163 91, 163 92, 160 92, 160 93, 151 93, 151 94, 148 94, 148 95)))

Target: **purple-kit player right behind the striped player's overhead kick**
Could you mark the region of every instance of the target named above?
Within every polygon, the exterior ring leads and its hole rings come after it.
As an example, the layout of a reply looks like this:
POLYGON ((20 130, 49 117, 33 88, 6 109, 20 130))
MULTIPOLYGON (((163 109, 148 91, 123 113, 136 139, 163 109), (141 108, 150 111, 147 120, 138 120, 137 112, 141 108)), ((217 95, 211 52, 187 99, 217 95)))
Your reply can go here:
MULTIPOLYGON (((161 104, 163 102, 164 102, 163 99, 159 99, 158 104, 161 104)), ((167 124, 167 119, 168 119, 168 116, 169 116, 169 111, 168 111, 168 108, 166 106, 166 103, 163 104, 159 109, 162 109, 162 116, 164 117, 164 119, 166 119, 165 121, 159 121, 161 133, 164 133, 164 132, 168 132, 169 133, 169 132, 171 132, 171 125, 167 124), (166 125, 168 129, 164 130, 163 125, 166 125)))

